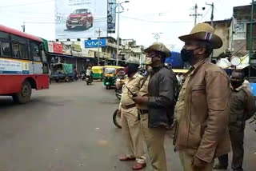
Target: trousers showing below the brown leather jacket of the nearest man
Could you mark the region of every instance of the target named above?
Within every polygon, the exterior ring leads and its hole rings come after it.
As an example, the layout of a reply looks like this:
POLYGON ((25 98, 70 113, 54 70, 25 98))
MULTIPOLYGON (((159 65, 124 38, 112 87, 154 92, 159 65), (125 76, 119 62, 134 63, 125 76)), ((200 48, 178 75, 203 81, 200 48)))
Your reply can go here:
POLYGON ((195 169, 192 167, 191 162, 193 160, 193 155, 190 155, 186 150, 179 151, 179 158, 182 162, 183 171, 213 171, 214 163, 209 163, 205 168, 195 169))

